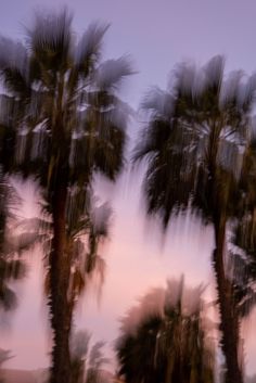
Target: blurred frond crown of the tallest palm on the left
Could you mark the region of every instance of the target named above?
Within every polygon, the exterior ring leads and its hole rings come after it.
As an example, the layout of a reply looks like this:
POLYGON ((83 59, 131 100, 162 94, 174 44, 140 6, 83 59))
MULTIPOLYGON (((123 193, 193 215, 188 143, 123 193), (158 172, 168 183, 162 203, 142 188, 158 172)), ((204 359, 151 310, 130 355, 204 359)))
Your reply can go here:
POLYGON ((16 166, 50 193, 59 177, 69 186, 93 170, 114 179, 123 164, 127 115, 115 93, 130 63, 100 63, 106 25, 91 24, 76 42, 71 24, 67 11, 38 15, 26 44, 0 47, 2 125, 9 136, 17 129, 16 166))

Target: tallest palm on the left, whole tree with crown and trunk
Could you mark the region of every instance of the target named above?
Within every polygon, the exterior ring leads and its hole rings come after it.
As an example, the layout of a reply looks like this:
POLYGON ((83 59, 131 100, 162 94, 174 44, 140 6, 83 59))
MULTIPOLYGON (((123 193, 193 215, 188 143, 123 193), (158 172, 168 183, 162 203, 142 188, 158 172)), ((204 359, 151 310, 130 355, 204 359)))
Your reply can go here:
POLYGON ((127 58, 101 63, 106 29, 91 24, 77 41, 64 10, 37 15, 25 44, 2 39, 0 47, 7 151, 16 149, 9 166, 38 179, 52 218, 52 383, 71 382, 68 206, 82 216, 93 175, 114 180, 123 165, 127 107, 117 90, 132 71, 127 58))

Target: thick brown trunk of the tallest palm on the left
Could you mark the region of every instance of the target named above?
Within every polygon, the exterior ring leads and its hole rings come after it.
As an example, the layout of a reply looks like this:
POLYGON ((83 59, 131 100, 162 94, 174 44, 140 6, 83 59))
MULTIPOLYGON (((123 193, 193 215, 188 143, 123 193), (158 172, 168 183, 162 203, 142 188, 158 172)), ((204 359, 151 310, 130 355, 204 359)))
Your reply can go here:
POLYGON ((50 254, 50 315, 53 331, 51 383, 71 383, 69 333, 72 308, 68 301, 71 257, 66 241, 67 188, 59 187, 53 199, 53 240, 50 254))

